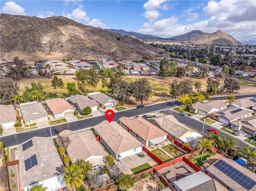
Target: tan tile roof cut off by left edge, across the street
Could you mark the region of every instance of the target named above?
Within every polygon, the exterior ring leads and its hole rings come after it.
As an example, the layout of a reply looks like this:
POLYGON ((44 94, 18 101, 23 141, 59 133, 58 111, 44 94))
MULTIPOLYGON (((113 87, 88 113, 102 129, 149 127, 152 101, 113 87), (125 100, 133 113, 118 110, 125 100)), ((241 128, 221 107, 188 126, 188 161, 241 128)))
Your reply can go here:
POLYGON ((0 122, 11 122, 16 121, 16 113, 14 106, 0 105, 0 122))

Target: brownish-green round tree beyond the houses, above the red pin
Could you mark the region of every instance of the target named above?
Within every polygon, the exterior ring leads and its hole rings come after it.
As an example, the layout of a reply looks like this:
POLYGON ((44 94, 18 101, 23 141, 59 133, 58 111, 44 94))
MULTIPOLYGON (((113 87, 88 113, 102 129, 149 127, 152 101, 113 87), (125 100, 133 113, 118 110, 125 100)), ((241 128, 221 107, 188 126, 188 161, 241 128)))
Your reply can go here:
POLYGON ((129 88, 129 83, 124 80, 115 83, 113 86, 113 94, 116 95, 120 101, 129 100, 130 96, 132 95, 132 91, 129 88))

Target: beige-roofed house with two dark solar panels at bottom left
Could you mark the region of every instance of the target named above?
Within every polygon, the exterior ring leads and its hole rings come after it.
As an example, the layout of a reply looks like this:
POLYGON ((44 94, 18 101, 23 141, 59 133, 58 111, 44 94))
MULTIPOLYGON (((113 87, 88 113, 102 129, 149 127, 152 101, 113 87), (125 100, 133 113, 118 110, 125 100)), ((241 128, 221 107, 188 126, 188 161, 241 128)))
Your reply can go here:
POLYGON ((21 186, 29 191, 33 185, 55 191, 65 187, 64 164, 50 137, 33 137, 18 145, 21 186))

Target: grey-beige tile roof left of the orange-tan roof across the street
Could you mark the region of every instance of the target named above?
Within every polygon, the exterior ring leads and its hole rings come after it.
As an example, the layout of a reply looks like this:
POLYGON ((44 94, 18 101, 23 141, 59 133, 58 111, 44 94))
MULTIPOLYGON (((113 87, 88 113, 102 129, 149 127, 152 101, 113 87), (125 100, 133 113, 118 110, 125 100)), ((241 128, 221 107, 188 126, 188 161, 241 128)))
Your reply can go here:
POLYGON ((24 121, 33 120, 36 117, 48 115, 44 106, 41 103, 21 105, 20 111, 24 121))

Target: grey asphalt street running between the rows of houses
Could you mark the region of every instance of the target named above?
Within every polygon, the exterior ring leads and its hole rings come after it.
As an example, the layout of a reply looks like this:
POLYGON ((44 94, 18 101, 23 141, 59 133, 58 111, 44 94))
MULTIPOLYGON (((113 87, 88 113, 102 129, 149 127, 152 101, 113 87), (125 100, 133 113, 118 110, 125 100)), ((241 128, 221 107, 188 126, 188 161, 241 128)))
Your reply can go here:
MULTIPOLYGON (((236 96, 236 98, 243 98, 243 97, 250 97, 250 96, 254 96, 256 97, 256 94, 253 95, 238 95, 236 96)), ((222 97, 212 97, 212 100, 217 100, 217 99, 225 99, 226 96, 222 96, 222 97)), ((163 103, 159 103, 159 104, 153 104, 153 105, 149 105, 149 106, 145 106, 144 108, 134 108, 134 109, 130 109, 130 110, 124 110, 124 111, 120 111, 120 112, 116 112, 114 119, 113 120, 118 120, 119 118, 121 118, 122 116, 126 116, 126 117, 132 117, 132 116, 137 116, 137 115, 142 115, 148 112, 154 112, 157 110, 162 110, 162 109, 166 109, 166 108, 170 108, 170 107, 174 107, 176 105, 180 105, 180 103, 178 103, 178 101, 170 101, 170 102, 163 102, 163 103)), ((181 116, 176 112, 172 112, 172 114, 181 122, 184 124, 189 125, 190 127, 197 129, 199 131, 202 132, 202 128, 203 128, 203 123, 198 121, 198 120, 194 120, 193 118, 190 118, 188 116, 181 116)), ((78 120, 78 121, 74 121, 74 122, 70 122, 70 130, 75 131, 75 130, 80 130, 80 129, 84 129, 84 128, 89 128, 89 127, 93 127, 96 124, 99 124, 100 122, 102 122, 103 120, 106 120, 105 116, 98 116, 98 117, 94 117, 94 118, 88 118, 88 119, 84 119, 84 120, 78 120)), ((56 127, 58 126, 52 126, 51 130, 52 130, 52 136, 55 136, 56 133, 56 127)), ((212 128, 212 126, 205 124, 204 125, 204 134, 208 134, 208 129, 212 128)), ((227 135, 226 132, 222 131, 223 135, 227 135)), ((37 130, 32 130, 32 131, 27 131, 27 132, 21 132, 21 133, 16 133, 14 135, 9 135, 9 136, 3 136, 0 138, 0 140, 4 143, 5 147, 10 147, 10 146, 14 146, 17 143, 21 144, 22 142, 27 141, 28 139, 34 137, 34 136, 41 136, 41 137, 47 137, 50 136, 50 128, 42 128, 42 129, 37 129, 37 130), (17 142, 16 142, 17 140, 17 142)), ((246 142, 243 142, 241 140, 237 140, 240 143, 240 147, 244 147, 246 146, 246 142)))

